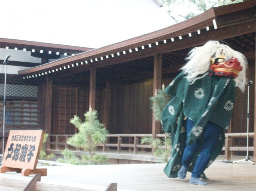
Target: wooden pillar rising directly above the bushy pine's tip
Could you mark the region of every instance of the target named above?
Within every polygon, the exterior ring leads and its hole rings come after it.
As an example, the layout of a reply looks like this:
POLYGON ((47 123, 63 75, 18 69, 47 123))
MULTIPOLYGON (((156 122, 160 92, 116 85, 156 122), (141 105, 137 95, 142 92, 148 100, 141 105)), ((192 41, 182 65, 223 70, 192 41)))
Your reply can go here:
POLYGON ((96 68, 90 70, 90 93, 89 93, 89 107, 95 109, 96 97, 96 68))

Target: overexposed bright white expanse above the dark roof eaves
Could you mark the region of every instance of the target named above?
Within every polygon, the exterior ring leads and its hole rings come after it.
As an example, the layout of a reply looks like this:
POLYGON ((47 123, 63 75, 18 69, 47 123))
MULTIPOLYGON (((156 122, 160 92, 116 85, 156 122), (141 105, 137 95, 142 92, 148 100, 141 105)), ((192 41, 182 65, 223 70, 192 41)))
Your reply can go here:
POLYGON ((1 0, 0 38, 98 48, 175 24, 154 0, 141 9, 145 1, 1 0))

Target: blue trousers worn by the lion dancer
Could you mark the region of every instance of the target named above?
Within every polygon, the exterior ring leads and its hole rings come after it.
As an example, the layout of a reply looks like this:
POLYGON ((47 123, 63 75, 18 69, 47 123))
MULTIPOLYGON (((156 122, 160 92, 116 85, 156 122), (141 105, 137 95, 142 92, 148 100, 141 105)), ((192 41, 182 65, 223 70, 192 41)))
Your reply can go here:
MULTIPOLYGON (((190 119, 187 120, 187 136, 191 129, 193 128, 194 122, 190 119)), ((203 145, 200 155, 197 158, 195 167, 192 172, 193 178, 200 178, 200 175, 207 168, 208 163, 210 161, 210 157, 212 156, 212 152, 217 145, 221 134, 222 128, 218 125, 208 122, 206 127, 204 128, 204 136, 203 136, 203 145)), ((201 144, 201 140, 197 140, 193 142, 191 145, 187 145, 185 147, 183 157, 182 157, 182 165, 186 168, 189 167, 192 158, 199 150, 201 144)))

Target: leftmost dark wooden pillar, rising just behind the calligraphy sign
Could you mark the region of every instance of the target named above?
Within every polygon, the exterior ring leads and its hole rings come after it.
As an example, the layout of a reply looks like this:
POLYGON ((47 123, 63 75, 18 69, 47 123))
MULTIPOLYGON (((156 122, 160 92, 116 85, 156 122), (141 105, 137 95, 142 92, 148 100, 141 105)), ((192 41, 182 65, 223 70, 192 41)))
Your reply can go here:
POLYGON ((52 125, 52 78, 46 77, 45 131, 51 134, 52 125))

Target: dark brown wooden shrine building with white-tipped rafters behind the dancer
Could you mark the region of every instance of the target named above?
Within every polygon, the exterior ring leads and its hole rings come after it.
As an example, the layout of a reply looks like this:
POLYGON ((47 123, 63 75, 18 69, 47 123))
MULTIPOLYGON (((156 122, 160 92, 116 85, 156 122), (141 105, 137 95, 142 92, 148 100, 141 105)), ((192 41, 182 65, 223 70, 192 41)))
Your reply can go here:
MULTIPOLYGON (((193 47, 208 40, 223 40, 248 60, 247 78, 254 82, 249 108, 249 132, 254 138, 250 139, 250 152, 256 161, 255 23, 256 1, 251 0, 212 7, 184 22, 98 49, 0 39, 1 47, 25 48, 44 60, 33 68, 18 71, 18 75, 8 76, 12 85, 36 88, 38 96, 8 98, 10 108, 28 111, 12 116, 6 131, 43 129, 50 135, 72 135, 76 129, 69 120, 74 114, 83 117, 92 106, 111 135, 155 137, 163 131, 152 116, 149 97, 180 72, 193 47), (65 57, 49 62, 56 52, 65 53, 65 57), (22 105, 23 102, 27 103, 22 105), (28 120, 23 123, 23 119, 28 120)), ((247 96, 246 90, 244 94, 237 90, 231 126, 226 133, 246 132, 247 96)), ((234 144, 238 145, 238 141, 234 144)))

